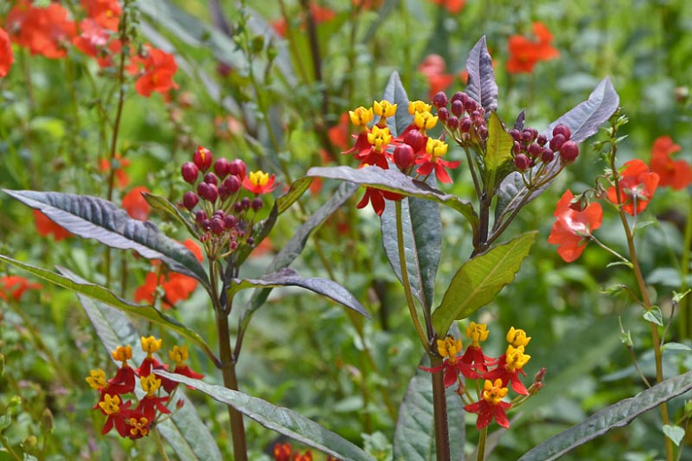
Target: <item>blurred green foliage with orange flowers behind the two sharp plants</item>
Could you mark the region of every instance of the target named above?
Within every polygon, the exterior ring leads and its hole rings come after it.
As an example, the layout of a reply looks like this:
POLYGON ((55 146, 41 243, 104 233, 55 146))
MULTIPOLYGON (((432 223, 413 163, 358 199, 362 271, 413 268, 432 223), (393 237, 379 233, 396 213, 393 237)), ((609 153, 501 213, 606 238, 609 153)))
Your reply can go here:
MULTIPOLYGON (((619 133, 628 136, 619 145, 620 159, 649 163, 655 140, 669 136, 681 146, 675 158, 692 160, 692 6, 681 0, 539 1, 519 8, 507 1, 471 0, 115 2, 127 12, 128 22, 101 27, 111 31, 104 35, 106 43, 120 40, 133 55, 140 54, 132 74, 117 59, 101 66, 96 55, 77 44, 77 37, 89 30, 85 21, 98 18, 90 5, 99 2, 59 2, 63 16, 56 4, 35 2, 37 8, 50 4, 56 10, 51 30, 58 38, 49 37, 49 44, 22 42, 17 35, 13 24, 18 16, 11 11, 29 3, 0 4, 0 27, 14 43, 14 62, 0 77, 0 185, 6 189, 91 194, 124 207, 131 190, 145 187, 179 201, 185 191, 179 165, 197 145, 205 145, 219 156, 276 172, 278 194, 312 166, 349 160, 339 155, 351 145, 345 113, 379 100, 392 71, 401 75, 411 99, 429 99, 437 90, 463 90, 463 66, 481 35, 486 35, 495 65, 503 120, 530 107, 527 121, 546 126, 609 75, 630 119, 619 133), (148 55, 145 43, 152 47, 148 55), (177 70, 169 74, 169 88, 150 85, 153 92, 145 96, 144 83, 137 82, 147 72, 146 56, 152 56, 152 49, 173 56, 177 70)), ((548 368, 546 387, 524 405, 523 416, 512 422, 491 459, 515 458, 594 410, 642 389, 620 342, 618 316, 623 316, 638 352, 651 350, 647 325, 625 314, 633 310, 627 298, 601 293, 612 285, 633 285, 631 275, 607 268, 611 256, 596 247, 568 265, 547 244, 552 223, 547 216, 562 191, 586 189, 602 167, 598 155, 582 145, 578 161, 556 181, 553 192, 526 208, 513 226, 537 228, 541 238, 515 283, 476 313, 476 322, 491 321, 500 331, 521 324, 533 338, 527 373, 532 376, 538 371, 532 366, 539 363, 548 368)), ((452 175, 452 193, 468 196, 472 186, 464 168, 452 175)), ((271 242, 253 254, 246 276, 261 273, 337 185, 313 183, 310 195, 272 231, 271 242)), ((398 403, 420 357, 413 352, 415 332, 407 322, 403 293, 377 238, 379 220, 357 214, 353 200, 312 235, 295 267, 303 276, 333 277, 349 287, 374 320, 303 298, 310 294, 273 293, 271 307, 258 311, 248 332, 238 372, 245 377, 240 386, 248 394, 315 418, 384 458, 398 403)), ((685 233, 691 206, 688 192, 657 191, 648 208, 649 216, 657 219, 639 241, 650 296, 664 313, 670 311, 672 291, 682 292, 690 283, 690 236, 685 233)), ((470 254, 468 229, 448 213, 443 210, 444 253, 470 254)), ((154 219, 161 222, 164 216, 154 219)), ((609 246, 625 247, 609 225, 614 224, 603 223, 602 239, 609 246)), ((162 227, 173 237, 185 238, 174 223, 162 227)), ((43 267, 67 266, 99 283, 112 278, 130 299, 150 270, 148 262, 130 258, 126 264, 119 254, 105 265, 102 247, 51 232, 40 216, 4 194, 0 242, 0 253, 17 259, 43 267)), ((439 286, 446 286, 456 269, 451 260, 440 263, 439 286)), ((90 411, 93 396, 83 377, 100 366, 103 351, 74 295, 50 285, 38 289, 31 279, 27 290, 18 293, 17 283, 24 282, 8 277, 26 274, 0 270, 4 445, 47 458, 151 455, 155 447, 150 444, 98 435, 102 421, 90 411)), ((207 336, 214 337, 204 303, 201 293, 194 293, 169 313, 198 332, 208 329, 207 336)), ((672 340, 689 344, 690 328, 678 320, 684 309, 682 300, 670 333, 672 340)), ((499 355, 502 335, 493 337, 498 343, 486 348, 499 355)), ((672 374, 690 366, 685 354, 670 353, 665 360, 672 374)), ((653 376, 653 357, 644 353, 639 361, 644 373, 653 376)), ((191 349, 191 364, 210 382, 220 379, 199 351, 191 349)), ((195 398, 227 453, 227 414, 195 398)), ((672 411, 683 403, 673 401, 672 411)), ((590 459, 653 459, 660 447, 660 433, 652 430, 656 424, 657 415, 651 412, 565 459, 586 454, 590 459)), ((262 453, 271 458, 275 437, 261 426, 248 425, 248 445, 258 458, 262 453)))

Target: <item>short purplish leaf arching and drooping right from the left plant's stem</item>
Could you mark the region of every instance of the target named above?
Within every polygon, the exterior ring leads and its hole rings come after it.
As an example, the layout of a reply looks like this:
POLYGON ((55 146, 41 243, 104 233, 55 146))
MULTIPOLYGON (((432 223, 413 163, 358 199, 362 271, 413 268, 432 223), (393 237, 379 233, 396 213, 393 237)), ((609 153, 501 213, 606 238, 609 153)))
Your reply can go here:
POLYGON ((240 290, 246 290, 248 288, 278 288, 280 286, 299 286, 305 288, 311 292, 326 296, 349 309, 353 309, 362 316, 370 317, 366 309, 361 306, 360 302, 358 302, 358 300, 342 285, 326 278, 303 278, 298 275, 298 272, 289 268, 278 270, 262 278, 234 278, 231 281, 231 285, 228 287, 228 292, 229 296, 232 296, 240 290))

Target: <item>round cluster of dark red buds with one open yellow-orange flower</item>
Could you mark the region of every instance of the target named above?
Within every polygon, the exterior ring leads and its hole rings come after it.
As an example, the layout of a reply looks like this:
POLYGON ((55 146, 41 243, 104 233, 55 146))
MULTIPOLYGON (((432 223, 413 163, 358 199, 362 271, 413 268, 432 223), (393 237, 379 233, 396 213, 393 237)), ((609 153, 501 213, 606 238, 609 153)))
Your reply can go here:
POLYGON ((240 159, 214 161, 212 152, 202 146, 193 161, 185 162, 181 174, 194 191, 185 192, 180 207, 193 216, 198 238, 209 254, 221 252, 223 257, 241 245, 255 245, 253 226, 263 207, 260 196, 276 189, 276 176, 262 170, 248 172, 240 159))

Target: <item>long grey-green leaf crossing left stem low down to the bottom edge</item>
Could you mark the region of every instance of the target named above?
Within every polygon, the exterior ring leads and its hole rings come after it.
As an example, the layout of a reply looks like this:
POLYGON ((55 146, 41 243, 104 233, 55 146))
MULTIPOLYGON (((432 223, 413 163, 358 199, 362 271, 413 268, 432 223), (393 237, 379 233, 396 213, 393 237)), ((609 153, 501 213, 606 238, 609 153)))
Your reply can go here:
POLYGON ((231 405, 234 409, 240 411, 248 418, 254 419, 262 426, 279 434, 284 434, 295 441, 303 443, 303 445, 319 449, 326 454, 343 460, 371 461, 374 459, 350 441, 293 410, 277 407, 270 402, 225 387, 207 384, 199 379, 190 379, 167 371, 157 371, 157 374, 183 383, 186 386, 194 387, 218 402, 231 405))

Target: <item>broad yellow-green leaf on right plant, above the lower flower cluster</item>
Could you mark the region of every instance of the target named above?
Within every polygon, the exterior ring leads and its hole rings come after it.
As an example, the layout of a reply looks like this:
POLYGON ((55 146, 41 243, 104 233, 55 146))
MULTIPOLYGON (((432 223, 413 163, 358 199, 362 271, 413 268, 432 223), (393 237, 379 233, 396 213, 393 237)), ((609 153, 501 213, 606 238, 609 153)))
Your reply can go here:
POLYGON ((537 234, 535 230, 526 232, 461 266, 452 277, 440 307, 433 312, 432 324, 440 337, 447 333, 454 320, 470 316, 514 280, 537 234))

